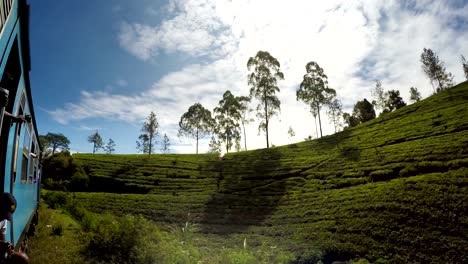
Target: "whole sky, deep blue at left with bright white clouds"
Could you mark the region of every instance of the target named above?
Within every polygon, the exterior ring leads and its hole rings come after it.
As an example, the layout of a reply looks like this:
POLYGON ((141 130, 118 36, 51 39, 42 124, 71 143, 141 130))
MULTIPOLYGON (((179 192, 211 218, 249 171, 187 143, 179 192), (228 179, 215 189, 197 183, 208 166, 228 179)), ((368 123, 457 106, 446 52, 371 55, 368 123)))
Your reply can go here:
MULTIPOLYGON (((86 139, 98 130, 117 143, 117 153, 135 153, 141 124, 154 111, 172 152, 193 153, 194 141, 176 136, 180 116, 196 102, 212 110, 227 89, 247 95, 246 63, 258 50, 275 56, 285 74, 281 114, 270 127, 275 145, 315 135, 307 106, 295 98, 309 61, 324 68, 349 111, 357 100, 370 98, 375 79, 406 100, 411 86, 429 96, 432 87, 419 62, 424 47, 439 55, 456 82, 464 79, 460 55, 468 57, 466 1, 30 4, 38 128, 41 134, 65 134, 77 152, 92 151, 86 139), (289 127, 296 137, 288 138, 289 127)), ((332 133, 323 119, 325 133, 332 133)), ((255 121, 248 127, 249 149, 265 146, 257 126, 255 121)), ((202 152, 206 147, 202 141, 202 152)))

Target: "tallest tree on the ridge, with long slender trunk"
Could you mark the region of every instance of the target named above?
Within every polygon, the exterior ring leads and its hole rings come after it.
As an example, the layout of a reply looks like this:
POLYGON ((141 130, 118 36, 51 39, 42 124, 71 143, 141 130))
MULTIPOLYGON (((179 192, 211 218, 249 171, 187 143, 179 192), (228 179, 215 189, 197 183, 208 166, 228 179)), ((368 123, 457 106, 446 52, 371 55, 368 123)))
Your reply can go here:
POLYGON ((247 62, 250 71, 248 84, 250 86, 250 98, 257 98, 257 117, 261 119, 259 130, 265 131, 267 148, 270 147, 268 138, 268 126, 270 119, 280 111, 281 103, 276 93, 280 91, 278 80, 284 79, 280 71, 280 63, 266 51, 259 51, 255 57, 250 57, 247 62))

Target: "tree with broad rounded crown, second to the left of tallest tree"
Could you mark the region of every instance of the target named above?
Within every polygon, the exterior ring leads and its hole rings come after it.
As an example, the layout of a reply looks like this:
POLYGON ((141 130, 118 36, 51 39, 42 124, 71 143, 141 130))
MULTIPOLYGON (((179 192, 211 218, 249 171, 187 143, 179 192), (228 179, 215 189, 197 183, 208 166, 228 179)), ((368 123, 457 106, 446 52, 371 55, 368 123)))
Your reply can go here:
POLYGON ((214 124, 210 110, 204 108, 200 103, 196 103, 190 106, 180 118, 178 136, 195 138, 197 141, 196 153, 198 154, 198 140, 213 132, 214 124))

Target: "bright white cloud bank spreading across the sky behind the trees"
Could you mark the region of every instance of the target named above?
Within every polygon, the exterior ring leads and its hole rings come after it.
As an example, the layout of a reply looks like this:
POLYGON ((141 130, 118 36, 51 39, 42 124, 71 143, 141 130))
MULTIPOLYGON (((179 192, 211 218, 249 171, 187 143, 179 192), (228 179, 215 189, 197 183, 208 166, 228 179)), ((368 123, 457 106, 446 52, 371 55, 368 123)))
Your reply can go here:
MULTIPOLYGON (((296 131, 296 141, 315 134, 306 105, 295 99, 304 66, 311 60, 324 68, 349 111, 357 100, 370 97, 377 78, 386 89, 400 90, 405 99, 411 86, 430 95, 419 62, 424 47, 439 54, 456 81, 463 77, 459 56, 468 55, 467 4, 171 0, 167 12, 170 15, 156 26, 124 22, 120 45, 145 61, 157 59, 160 52, 183 52, 194 58, 208 56, 211 62, 184 65, 133 96, 83 92, 78 102, 51 111, 52 116, 60 123, 96 116, 140 122, 154 110, 161 130, 175 135, 180 116, 193 103, 213 109, 228 89, 247 95, 246 62, 258 50, 267 50, 285 74, 279 84, 281 115, 270 127, 272 143, 281 145, 289 141, 289 126, 296 131), (456 19, 463 23, 453 24, 456 19)), ((264 136, 256 136, 257 124, 248 127, 249 148, 265 146, 264 136)), ((322 126, 325 134, 333 132, 325 111, 322 126)), ((178 144, 177 151, 194 151, 178 144)))

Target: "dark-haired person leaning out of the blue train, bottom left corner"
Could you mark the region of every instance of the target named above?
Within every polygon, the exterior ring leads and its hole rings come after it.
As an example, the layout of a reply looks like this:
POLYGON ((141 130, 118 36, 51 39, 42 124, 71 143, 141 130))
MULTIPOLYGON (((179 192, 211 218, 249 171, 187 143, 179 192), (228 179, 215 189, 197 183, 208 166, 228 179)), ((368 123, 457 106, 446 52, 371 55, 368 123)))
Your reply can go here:
POLYGON ((0 194, 0 263, 27 264, 29 258, 23 252, 15 252, 10 242, 5 241, 8 221, 13 219, 16 210, 16 199, 10 193, 0 194))

